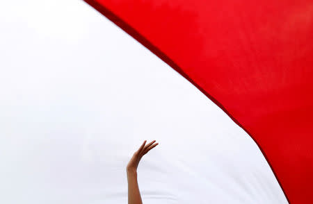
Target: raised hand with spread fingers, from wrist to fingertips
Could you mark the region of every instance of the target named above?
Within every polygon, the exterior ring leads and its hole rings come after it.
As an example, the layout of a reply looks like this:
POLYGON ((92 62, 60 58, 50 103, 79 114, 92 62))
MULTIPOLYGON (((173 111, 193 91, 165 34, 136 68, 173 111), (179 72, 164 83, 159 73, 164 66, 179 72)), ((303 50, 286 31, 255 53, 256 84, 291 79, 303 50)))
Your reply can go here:
POLYGON ((147 140, 143 142, 143 144, 138 149, 138 151, 136 151, 134 155, 132 156, 131 160, 129 160, 127 164, 127 168, 126 168, 127 171, 136 172, 138 164, 141 161, 141 158, 143 157, 143 155, 145 155, 148 151, 150 151, 152 148, 154 148, 155 146, 159 144, 159 143, 154 144, 155 140, 150 142, 149 144, 145 144, 146 142, 147 140))

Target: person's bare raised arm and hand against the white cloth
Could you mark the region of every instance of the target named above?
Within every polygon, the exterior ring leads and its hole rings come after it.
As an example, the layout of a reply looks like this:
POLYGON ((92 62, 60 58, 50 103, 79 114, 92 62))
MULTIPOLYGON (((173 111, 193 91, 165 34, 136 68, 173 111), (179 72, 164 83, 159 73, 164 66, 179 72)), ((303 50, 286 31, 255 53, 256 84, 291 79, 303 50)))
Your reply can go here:
POLYGON ((126 171, 127 171, 127 182, 128 182, 128 204, 143 204, 141 200, 141 192, 138 187, 138 180, 137 180, 137 168, 138 164, 143 158, 143 155, 148 153, 152 148, 157 146, 159 143, 155 140, 146 144, 147 140, 143 142, 140 148, 134 153, 129 160, 126 171))

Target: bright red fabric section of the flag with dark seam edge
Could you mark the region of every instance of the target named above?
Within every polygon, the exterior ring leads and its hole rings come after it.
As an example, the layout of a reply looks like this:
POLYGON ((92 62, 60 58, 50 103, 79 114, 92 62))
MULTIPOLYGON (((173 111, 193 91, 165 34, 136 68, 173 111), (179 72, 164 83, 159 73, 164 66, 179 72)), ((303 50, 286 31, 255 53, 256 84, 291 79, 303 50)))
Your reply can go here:
POLYGON ((313 203, 312 0, 86 0, 255 140, 290 203, 313 203))

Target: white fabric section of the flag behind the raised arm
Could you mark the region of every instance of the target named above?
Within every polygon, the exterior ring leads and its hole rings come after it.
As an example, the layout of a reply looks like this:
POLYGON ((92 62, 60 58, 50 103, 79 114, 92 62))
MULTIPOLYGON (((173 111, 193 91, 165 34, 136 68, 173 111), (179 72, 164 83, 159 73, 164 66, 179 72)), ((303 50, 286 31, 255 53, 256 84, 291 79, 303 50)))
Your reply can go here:
POLYGON ((287 203, 252 139, 83 1, 0 3, 0 203, 287 203))

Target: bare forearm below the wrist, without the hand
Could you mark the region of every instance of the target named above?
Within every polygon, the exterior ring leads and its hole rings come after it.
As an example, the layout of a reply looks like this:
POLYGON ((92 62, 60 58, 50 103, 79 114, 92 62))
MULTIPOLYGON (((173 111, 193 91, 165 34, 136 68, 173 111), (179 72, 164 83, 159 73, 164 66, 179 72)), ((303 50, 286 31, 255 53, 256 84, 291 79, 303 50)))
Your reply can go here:
POLYGON ((128 204, 143 204, 141 192, 139 191, 137 172, 127 169, 128 182, 128 204))

